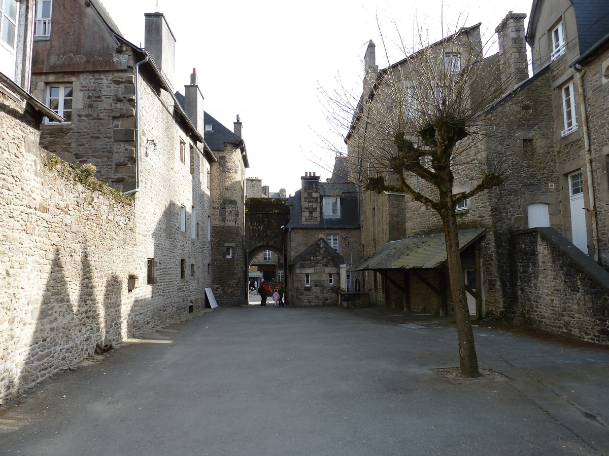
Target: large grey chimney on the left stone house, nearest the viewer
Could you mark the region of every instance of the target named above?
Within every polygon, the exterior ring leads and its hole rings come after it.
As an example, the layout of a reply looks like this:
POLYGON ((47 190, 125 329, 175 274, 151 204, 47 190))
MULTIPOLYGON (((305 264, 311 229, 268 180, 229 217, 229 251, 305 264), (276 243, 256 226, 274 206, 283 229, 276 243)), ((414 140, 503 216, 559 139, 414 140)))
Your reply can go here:
POLYGON ((147 50, 154 63, 174 92, 175 72, 175 36, 167 24, 163 13, 145 13, 144 49, 147 50))

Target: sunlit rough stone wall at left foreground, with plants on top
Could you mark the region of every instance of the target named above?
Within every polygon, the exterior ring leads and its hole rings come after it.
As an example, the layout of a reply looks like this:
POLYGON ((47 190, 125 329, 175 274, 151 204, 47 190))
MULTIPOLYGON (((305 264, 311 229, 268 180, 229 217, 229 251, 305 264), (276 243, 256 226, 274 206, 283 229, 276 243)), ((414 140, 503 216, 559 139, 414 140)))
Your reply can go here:
POLYGON ((37 124, 2 102, 0 403, 148 327, 127 289, 133 206, 39 151, 37 124))

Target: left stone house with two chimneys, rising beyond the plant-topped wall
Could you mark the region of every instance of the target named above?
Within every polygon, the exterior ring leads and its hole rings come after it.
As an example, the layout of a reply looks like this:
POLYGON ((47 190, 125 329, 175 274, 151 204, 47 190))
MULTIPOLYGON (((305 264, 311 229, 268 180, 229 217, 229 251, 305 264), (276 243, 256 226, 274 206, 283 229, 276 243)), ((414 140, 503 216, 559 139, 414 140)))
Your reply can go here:
POLYGON ((67 162, 135 194, 136 302, 150 321, 205 306, 211 286, 208 173, 197 77, 175 92, 175 37, 162 13, 145 15, 145 49, 125 40, 100 2, 52 3, 35 36, 32 93, 66 122, 46 120, 40 144, 67 162))

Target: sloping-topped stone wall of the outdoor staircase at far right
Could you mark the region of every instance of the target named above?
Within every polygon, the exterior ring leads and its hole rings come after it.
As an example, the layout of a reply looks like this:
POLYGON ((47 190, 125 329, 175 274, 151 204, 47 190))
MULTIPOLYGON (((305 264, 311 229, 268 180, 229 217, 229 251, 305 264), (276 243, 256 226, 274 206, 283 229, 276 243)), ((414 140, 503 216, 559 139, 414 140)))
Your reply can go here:
POLYGON ((609 344, 609 273, 549 228, 513 238, 518 320, 609 344))

